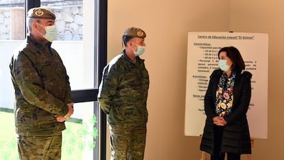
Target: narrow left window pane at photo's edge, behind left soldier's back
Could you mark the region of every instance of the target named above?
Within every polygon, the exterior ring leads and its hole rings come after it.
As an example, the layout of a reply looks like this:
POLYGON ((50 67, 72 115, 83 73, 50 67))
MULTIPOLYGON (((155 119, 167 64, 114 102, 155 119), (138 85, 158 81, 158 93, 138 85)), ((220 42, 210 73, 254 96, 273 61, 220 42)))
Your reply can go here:
POLYGON ((14 89, 9 63, 12 52, 25 39, 24 0, 0 0, 0 157, 18 159, 14 126, 14 89))

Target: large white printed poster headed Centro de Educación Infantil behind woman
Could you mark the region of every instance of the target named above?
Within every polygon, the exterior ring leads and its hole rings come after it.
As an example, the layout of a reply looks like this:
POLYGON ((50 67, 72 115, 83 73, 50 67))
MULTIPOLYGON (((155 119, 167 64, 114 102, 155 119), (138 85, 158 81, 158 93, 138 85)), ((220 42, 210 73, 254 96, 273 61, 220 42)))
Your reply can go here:
POLYGON ((218 68, 218 51, 228 46, 239 49, 246 71, 252 73, 252 98, 247 113, 250 136, 267 139, 268 34, 264 33, 188 33, 185 135, 200 136, 203 133, 204 95, 211 73, 218 68))

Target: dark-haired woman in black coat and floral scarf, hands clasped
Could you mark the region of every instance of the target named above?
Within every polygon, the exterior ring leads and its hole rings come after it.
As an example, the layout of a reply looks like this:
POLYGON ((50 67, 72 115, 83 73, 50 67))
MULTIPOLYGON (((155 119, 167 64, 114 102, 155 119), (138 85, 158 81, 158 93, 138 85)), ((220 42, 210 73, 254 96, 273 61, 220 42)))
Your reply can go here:
POLYGON ((251 154, 246 113, 250 104, 252 74, 244 71, 239 50, 224 47, 218 52, 219 67, 210 76, 204 97, 206 123, 200 150, 209 152, 211 160, 239 160, 251 154))

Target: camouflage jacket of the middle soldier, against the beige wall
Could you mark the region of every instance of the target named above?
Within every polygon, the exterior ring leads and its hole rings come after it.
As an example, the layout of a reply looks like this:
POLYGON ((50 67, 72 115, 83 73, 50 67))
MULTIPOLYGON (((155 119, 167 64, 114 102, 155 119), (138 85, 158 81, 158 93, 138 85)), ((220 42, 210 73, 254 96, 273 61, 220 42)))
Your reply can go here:
POLYGON ((125 51, 104 68, 98 101, 115 126, 141 126, 147 123, 149 75, 144 60, 132 62, 125 51))

